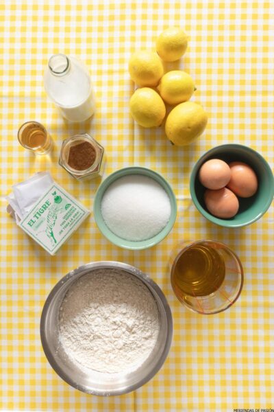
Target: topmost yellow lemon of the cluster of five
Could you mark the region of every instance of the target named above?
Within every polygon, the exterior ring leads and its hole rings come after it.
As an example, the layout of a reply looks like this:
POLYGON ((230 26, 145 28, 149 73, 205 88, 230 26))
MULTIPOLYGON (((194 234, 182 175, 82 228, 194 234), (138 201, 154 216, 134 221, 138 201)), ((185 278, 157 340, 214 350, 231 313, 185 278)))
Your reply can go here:
POLYGON ((164 30, 156 41, 157 53, 165 62, 178 60, 185 54, 187 47, 188 38, 186 33, 177 27, 164 30))

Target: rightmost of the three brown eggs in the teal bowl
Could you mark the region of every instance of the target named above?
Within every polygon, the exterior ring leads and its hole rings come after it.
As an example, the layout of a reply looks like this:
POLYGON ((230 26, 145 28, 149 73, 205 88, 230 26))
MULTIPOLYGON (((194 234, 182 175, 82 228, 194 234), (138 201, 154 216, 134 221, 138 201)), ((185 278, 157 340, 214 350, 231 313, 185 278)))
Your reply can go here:
POLYGON ((242 161, 229 163, 231 179, 227 187, 240 197, 250 197, 257 192, 258 179, 253 169, 242 161))

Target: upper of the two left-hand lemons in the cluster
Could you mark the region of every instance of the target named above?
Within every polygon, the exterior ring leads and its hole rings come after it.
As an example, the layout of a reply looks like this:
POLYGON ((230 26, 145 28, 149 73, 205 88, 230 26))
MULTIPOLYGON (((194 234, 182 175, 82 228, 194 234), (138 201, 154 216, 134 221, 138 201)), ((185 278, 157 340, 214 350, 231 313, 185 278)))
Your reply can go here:
POLYGON ((141 50, 132 55, 129 60, 130 77, 138 86, 157 86, 164 74, 162 61, 158 54, 141 50))

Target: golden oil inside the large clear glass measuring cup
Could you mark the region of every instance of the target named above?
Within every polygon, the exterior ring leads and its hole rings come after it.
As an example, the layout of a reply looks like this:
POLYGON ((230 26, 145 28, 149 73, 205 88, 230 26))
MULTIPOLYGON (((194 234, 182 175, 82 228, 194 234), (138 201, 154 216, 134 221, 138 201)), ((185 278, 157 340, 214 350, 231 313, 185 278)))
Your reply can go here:
POLYGON ((179 256, 173 267, 173 288, 179 297, 203 297, 216 292, 225 278, 225 262, 216 249, 197 244, 179 256))

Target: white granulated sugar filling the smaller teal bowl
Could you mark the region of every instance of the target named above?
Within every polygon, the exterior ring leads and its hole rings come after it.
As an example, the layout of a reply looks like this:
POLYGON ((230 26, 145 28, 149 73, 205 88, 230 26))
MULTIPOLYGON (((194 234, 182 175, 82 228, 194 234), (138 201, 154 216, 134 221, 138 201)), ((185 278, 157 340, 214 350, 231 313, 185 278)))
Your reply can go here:
POLYGON ((101 213, 108 228, 125 240, 147 240, 157 235, 171 216, 169 196, 154 179, 132 174, 116 180, 105 191, 101 213))

